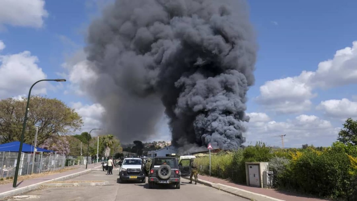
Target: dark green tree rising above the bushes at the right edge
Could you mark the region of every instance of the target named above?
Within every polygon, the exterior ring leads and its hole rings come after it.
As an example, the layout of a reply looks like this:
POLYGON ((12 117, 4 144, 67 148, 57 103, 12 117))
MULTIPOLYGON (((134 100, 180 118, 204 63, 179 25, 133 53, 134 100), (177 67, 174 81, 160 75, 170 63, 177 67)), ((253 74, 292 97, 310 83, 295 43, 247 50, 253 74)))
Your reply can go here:
POLYGON ((357 145, 357 121, 348 118, 343 124, 343 129, 338 133, 337 140, 344 144, 357 145))

